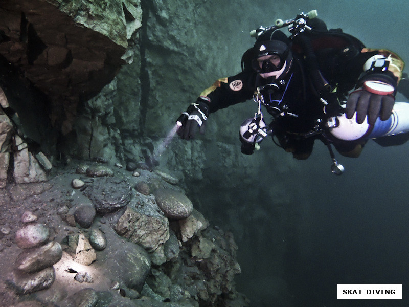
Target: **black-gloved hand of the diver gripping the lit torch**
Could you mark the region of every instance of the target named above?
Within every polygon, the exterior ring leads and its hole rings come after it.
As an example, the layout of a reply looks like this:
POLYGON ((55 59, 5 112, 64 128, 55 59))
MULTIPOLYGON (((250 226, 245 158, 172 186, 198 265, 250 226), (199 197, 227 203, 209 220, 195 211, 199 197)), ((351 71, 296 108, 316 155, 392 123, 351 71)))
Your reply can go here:
POLYGON ((179 125, 177 129, 179 137, 184 140, 193 139, 197 130, 200 134, 204 134, 208 115, 209 107, 205 102, 197 101, 189 105, 186 112, 182 113, 176 121, 179 125))

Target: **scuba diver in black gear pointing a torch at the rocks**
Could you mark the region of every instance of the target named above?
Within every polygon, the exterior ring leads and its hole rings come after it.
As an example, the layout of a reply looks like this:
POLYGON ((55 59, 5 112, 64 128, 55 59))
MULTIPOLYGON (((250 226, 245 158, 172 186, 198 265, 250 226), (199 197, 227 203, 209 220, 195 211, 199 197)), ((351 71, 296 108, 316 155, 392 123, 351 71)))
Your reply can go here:
POLYGON ((409 103, 395 103, 403 61, 388 50, 365 48, 341 29, 328 30, 316 16, 315 10, 301 13, 252 31, 256 42, 242 57, 242 72, 218 79, 189 105, 176 121, 180 138, 204 133, 209 114, 253 98, 257 112, 240 127, 247 155, 270 135, 294 158, 307 159, 319 139, 330 151, 332 172, 341 174, 332 145, 358 157, 368 139, 382 146, 407 141, 409 103), (279 30, 287 26, 289 37, 279 30), (261 106, 272 116, 269 124, 261 106))

